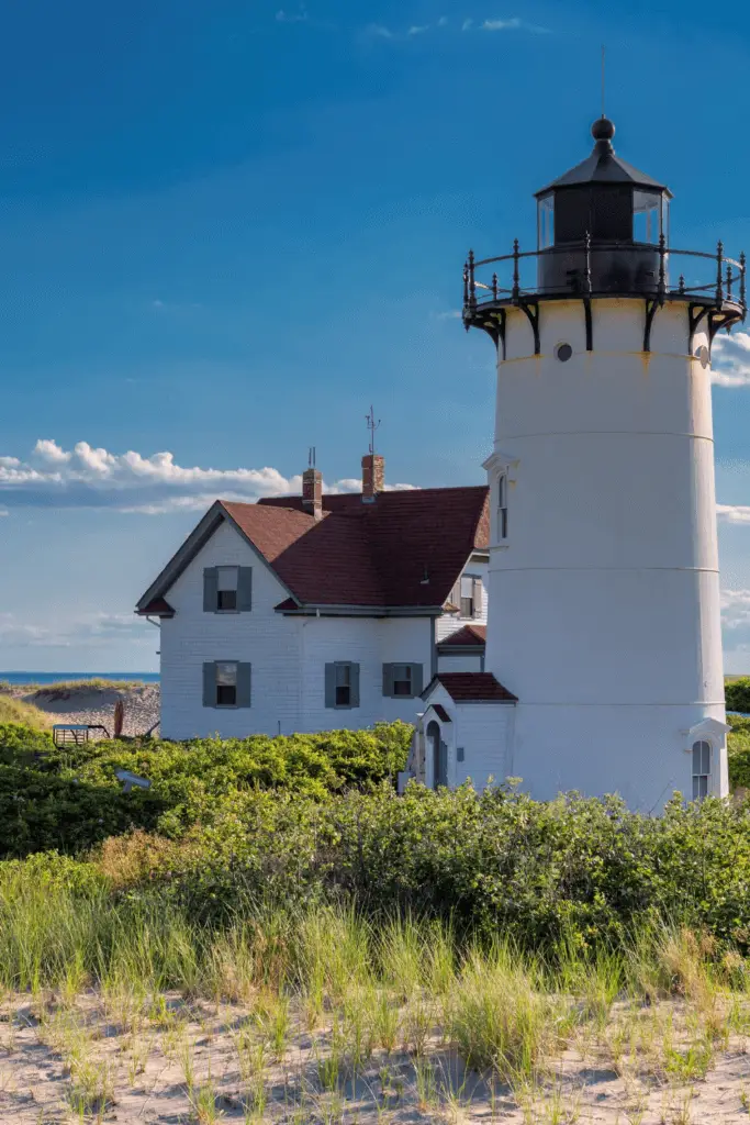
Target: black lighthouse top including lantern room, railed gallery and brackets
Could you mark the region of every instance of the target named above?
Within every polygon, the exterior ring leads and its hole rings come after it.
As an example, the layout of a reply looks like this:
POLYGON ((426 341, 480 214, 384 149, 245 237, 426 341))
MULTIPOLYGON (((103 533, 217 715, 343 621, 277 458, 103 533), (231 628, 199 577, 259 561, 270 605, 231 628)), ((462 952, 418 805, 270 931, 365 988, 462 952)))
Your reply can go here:
POLYGON ((594 348, 596 298, 643 302, 644 352, 651 349, 653 318, 667 303, 685 307, 689 354, 702 322, 713 341, 720 328, 746 318, 744 254, 728 258, 721 242, 715 254, 670 245, 671 191, 615 155, 614 133, 608 118, 596 120, 591 155, 535 192, 536 250, 522 251, 516 238, 512 254, 478 260, 469 251, 463 323, 487 332, 503 359, 509 308, 528 318, 540 354, 540 316, 548 302, 581 302, 587 351, 594 348), (680 270, 677 284, 672 269, 680 270))

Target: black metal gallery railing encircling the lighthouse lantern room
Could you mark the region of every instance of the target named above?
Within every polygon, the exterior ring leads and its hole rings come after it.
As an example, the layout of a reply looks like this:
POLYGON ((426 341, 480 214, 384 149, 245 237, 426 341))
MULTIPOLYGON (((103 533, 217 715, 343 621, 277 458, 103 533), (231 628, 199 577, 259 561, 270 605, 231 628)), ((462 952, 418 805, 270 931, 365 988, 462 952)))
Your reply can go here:
MULTIPOLYGON (((680 263, 681 264, 681 263, 680 263)), ((715 254, 697 250, 674 250, 665 245, 663 235, 658 245, 648 243, 596 243, 589 240, 580 245, 550 246, 546 250, 522 252, 518 240, 513 253, 499 258, 476 261, 469 251, 463 269, 464 321, 471 320, 472 310, 482 305, 513 304, 524 298, 566 296, 656 296, 667 298, 692 298, 717 307, 725 303, 737 306, 744 320, 747 313, 746 258, 739 261, 724 255, 722 243, 715 254), (670 259, 681 256, 697 259, 686 261, 678 282, 669 281, 670 259), (533 281, 526 276, 527 267, 536 264, 533 281), (703 267, 713 262, 711 276, 703 267), (564 266, 570 264, 569 269, 564 266), (549 267, 552 266, 552 269, 549 267), (560 277, 562 266, 563 277, 560 277), (501 267, 498 270, 498 267, 501 267), (491 268, 491 273, 490 273, 491 268), (686 278, 685 273, 690 276, 686 278), (697 273, 697 277, 693 274, 697 273), (505 284, 503 284, 505 282, 505 284)))

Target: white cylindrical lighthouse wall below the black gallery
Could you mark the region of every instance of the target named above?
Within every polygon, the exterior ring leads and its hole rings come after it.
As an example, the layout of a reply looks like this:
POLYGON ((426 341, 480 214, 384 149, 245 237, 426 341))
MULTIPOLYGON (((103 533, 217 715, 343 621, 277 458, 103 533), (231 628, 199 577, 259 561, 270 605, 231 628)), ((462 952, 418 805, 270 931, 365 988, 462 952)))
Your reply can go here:
MULTIPOLYGON (((486 668, 518 696, 510 772, 534 796, 658 809, 692 794, 689 729, 724 720, 711 369, 688 354, 684 304, 657 312, 650 353, 642 300, 591 305, 587 352, 580 299, 545 302, 540 356, 508 309, 495 441, 512 462, 508 536, 490 469, 486 668)), ((719 745, 711 791, 726 792, 719 745)))

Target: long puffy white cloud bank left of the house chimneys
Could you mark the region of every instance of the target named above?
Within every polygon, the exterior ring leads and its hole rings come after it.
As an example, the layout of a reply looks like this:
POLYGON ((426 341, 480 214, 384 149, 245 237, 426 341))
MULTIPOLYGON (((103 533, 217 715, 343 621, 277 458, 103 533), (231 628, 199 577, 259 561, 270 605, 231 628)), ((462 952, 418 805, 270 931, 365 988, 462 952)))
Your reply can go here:
MULTIPOLYGON (((361 482, 338 480, 327 492, 359 492, 361 482)), ((395 488, 409 487, 394 485, 395 488)), ((173 453, 145 457, 128 450, 111 453, 79 441, 72 450, 51 439, 37 441, 27 461, 0 459, 0 501, 10 507, 103 507, 160 515, 200 511, 217 497, 255 501, 299 494, 301 477, 278 469, 183 467, 173 453)))

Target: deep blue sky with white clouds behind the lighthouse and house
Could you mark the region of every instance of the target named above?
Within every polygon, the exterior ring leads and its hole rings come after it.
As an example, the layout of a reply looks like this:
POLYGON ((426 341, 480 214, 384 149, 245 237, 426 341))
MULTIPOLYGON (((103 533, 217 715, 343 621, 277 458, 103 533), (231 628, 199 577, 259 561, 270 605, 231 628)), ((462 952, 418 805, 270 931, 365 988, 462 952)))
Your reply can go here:
MULTIPOLYGON (((136 600, 217 495, 476 484, 495 372, 461 268, 615 147, 671 241, 750 250, 750 8, 25 0, 0 14, 0 669, 146 672, 136 600)), ((750 672, 750 334, 714 420, 728 670, 750 672)))

